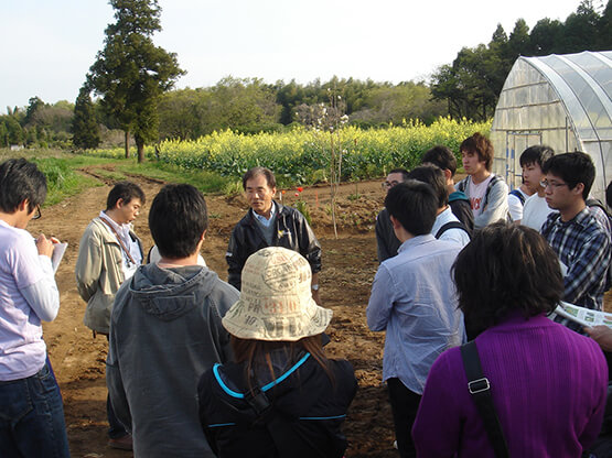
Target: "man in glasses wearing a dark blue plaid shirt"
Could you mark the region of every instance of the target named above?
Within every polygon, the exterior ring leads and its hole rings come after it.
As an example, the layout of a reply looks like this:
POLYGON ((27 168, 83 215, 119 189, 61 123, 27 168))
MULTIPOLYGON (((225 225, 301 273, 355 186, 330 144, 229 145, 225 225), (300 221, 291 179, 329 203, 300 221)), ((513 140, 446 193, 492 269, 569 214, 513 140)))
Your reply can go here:
POLYGON ((559 257, 563 273, 563 299, 601 310, 610 268, 610 236, 587 206, 595 177, 591 157, 581 152, 565 153, 544 163, 543 179, 550 214, 541 235, 559 257))

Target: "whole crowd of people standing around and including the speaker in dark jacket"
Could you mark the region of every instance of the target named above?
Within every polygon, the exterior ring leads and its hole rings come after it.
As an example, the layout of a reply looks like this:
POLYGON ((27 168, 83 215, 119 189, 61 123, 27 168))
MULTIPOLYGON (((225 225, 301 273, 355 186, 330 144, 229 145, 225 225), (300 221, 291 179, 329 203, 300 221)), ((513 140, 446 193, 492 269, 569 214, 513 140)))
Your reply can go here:
MULTIPOLYGON (((484 135, 460 153, 468 177, 457 184, 445 146, 384 183, 366 317, 386 331, 396 446, 401 457, 580 457, 601 429, 601 347, 612 349, 612 330, 577 332, 547 315, 561 299, 601 309, 610 287, 610 221, 589 199, 594 166, 583 153, 533 146, 508 193, 484 135), (480 393, 495 422, 481 416, 480 393)), ((148 255, 131 229, 146 204, 133 183, 118 183, 85 230, 76 280, 85 325, 109 341, 111 447, 138 457, 343 457, 357 382, 348 361, 325 356, 321 246, 298 210, 275 200, 271 171, 249 170, 243 187, 250 209, 232 231, 227 283, 200 255, 208 218, 193 186, 154 197, 148 255)), ((0 445, 10 457, 68 456, 41 328, 58 309, 53 241, 24 230, 45 192, 34 164, 0 165, 0 445), (50 388, 34 394, 43 379, 50 388)))

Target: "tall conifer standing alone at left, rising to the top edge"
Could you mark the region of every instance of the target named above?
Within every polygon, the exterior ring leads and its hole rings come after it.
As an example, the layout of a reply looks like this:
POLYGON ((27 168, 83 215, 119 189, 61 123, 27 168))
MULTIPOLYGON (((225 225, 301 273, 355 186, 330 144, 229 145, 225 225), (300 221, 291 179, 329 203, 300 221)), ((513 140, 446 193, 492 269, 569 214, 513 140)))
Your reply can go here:
POLYGON ((144 143, 158 137, 158 101, 184 72, 176 55, 155 46, 151 39, 161 31, 157 0, 110 0, 110 4, 117 22, 107 26, 105 47, 87 79, 103 97, 104 111, 126 133, 126 157, 133 132, 138 162, 142 162, 144 143))

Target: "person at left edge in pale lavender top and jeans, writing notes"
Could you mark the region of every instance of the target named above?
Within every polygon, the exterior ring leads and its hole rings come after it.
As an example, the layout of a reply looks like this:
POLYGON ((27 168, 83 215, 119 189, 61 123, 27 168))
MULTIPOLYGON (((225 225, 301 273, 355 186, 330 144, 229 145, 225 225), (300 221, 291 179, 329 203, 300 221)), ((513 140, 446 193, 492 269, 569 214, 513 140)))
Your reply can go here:
POLYGON ((0 164, 0 455, 69 457, 60 388, 41 321, 60 310, 53 242, 25 230, 40 218, 46 178, 24 159, 0 164))

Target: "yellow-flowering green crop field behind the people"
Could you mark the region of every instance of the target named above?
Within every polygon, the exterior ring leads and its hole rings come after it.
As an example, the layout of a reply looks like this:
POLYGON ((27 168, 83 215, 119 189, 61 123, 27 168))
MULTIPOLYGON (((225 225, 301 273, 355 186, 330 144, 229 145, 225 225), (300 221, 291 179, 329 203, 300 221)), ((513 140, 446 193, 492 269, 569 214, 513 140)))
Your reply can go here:
MULTIPOLYGON (((240 177, 261 165, 272 170, 280 183, 312 184, 325 181, 332 150, 342 153, 342 179, 383 176, 394 167, 412 168, 428 149, 443 144, 458 153, 460 143, 480 131, 488 134, 491 122, 476 123, 440 118, 431 126, 418 121, 402 127, 362 130, 344 127, 336 132, 294 129, 283 133, 240 134, 213 132, 194 141, 163 141, 146 149, 151 160, 185 170, 204 170, 240 177)), ((119 157, 122 150, 97 151, 119 157)))

